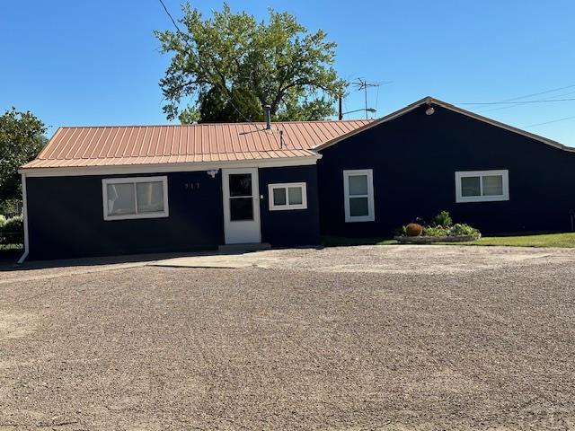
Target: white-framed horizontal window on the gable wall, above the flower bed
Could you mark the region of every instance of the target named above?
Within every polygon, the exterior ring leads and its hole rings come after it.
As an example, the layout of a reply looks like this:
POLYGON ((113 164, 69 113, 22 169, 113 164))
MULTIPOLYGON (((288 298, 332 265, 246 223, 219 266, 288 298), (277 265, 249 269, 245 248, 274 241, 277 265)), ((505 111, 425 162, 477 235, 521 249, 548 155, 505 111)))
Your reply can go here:
POLYGON ((456 202, 509 200, 509 171, 456 172, 456 202))

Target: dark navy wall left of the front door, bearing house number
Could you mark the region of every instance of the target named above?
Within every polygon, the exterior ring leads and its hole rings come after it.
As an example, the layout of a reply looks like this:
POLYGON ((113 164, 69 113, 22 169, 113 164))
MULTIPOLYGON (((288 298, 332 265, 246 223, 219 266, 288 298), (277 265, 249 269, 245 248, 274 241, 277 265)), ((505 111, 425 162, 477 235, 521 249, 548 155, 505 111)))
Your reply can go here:
POLYGON ((224 243, 221 172, 214 179, 204 171, 152 175, 168 177, 167 218, 104 221, 102 178, 113 175, 28 178, 31 259, 216 249, 224 243))

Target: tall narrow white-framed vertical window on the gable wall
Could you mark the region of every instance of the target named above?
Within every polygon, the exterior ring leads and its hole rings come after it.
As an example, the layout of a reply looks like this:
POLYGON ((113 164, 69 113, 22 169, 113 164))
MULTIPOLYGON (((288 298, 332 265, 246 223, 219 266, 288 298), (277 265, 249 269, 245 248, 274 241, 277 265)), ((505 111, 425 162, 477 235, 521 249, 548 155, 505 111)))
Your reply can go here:
POLYGON ((373 222, 374 172, 372 169, 343 171, 345 221, 373 222))

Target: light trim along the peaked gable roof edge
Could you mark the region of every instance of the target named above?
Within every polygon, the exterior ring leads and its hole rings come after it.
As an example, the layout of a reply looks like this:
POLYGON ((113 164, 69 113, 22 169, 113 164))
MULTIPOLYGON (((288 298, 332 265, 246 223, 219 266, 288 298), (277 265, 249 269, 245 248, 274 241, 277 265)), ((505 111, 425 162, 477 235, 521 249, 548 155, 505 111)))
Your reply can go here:
POLYGON ((458 108, 455 105, 447 103, 446 101, 439 101, 438 99, 434 99, 433 97, 429 97, 429 96, 424 97, 423 99, 420 99, 419 101, 414 101, 413 103, 411 103, 410 105, 407 105, 406 107, 402 108, 401 110, 396 110, 396 111, 392 112, 391 114, 386 115, 385 117, 382 117, 381 119, 376 119, 373 122, 367 124, 366 126, 363 126, 362 128, 356 128, 355 130, 353 130, 353 131, 351 131, 345 135, 338 136, 335 139, 332 139, 331 141, 325 142, 321 145, 316 145, 312 149, 314 151, 321 151, 321 150, 323 150, 329 146, 332 146, 332 145, 335 145, 335 144, 341 142, 343 139, 347 139, 349 136, 357 135, 358 133, 361 133, 364 130, 367 130, 368 128, 374 128, 374 127, 376 127, 380 124, 383 124, 387 121, 391 121, 392 119, 396 119, 398 117, 401 117, 404 114, 411 112, 411 110, 415 110, 416 108, 419 108, 423 104, 438 105, 438 106, 445 108, 447 110, 453 110, 454 112, 462 114, 466 117, 471 117, 472 119, 477 119, 477 120, 482 121, 484 123, 491 124, 492 126, 495 126, 498 128, 503 128, 505 130, 509 130, 510 132, 517 133, 518 135, 530 137, 531 139, 535 139, 535 141, 539 141, 542 144, 551 145, 551 146, 554 146, 555 148, 559 148, 559 149, 561 149, 563 151, 567 151, 567 152, 575 152, 575 148, 573 148, 571 146, 562 145, 561 143, 559 143, 557 141, 553 141, 552 139, 546 138, 544 136, 535 135, 535 133, 527 132, 526 130, 522 130, 520 128, 515 128, 513 126, 509 126, 509 124, 501 123, 500 121, 497 121, 495 119, 488 119, 487 117, 483 117, 482 115, 475 114, 469 110, 464 110, 462 108, 458 108))

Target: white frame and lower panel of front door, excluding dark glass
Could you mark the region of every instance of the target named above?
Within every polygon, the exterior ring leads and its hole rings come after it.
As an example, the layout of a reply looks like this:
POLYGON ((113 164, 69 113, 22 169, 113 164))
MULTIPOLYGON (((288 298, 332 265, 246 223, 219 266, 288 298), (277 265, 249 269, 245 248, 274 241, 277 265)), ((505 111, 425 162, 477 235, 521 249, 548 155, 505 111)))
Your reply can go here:
POLYGON ((222 189, 224 198, 224 237, 226 244, 261 242, 260 179, 258 176, 258 168, 222 169, 222 189), (230 173, 252 174, 253 220, 230 220, 230 173))

